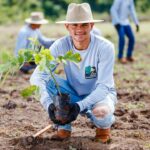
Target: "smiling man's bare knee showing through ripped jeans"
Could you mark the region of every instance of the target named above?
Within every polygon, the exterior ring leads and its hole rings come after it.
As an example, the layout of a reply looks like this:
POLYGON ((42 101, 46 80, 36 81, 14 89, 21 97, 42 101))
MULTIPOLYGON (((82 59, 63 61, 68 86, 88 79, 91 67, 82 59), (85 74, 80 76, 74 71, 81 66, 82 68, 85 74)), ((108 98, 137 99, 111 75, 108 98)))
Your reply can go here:
POLYGON ((99 119, 106 117, 111 113, 111 110, 107 105, 98 105, 93 108, 92 113, 97 119, 99 119))

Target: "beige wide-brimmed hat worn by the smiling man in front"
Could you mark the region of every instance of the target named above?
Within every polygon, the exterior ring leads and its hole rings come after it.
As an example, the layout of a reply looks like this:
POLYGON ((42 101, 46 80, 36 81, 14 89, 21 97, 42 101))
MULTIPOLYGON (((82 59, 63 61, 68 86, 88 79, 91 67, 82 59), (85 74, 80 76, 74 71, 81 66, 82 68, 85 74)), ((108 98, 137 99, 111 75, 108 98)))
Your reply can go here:
POLYGON ((72 23, 96 23, 104 20, 94 20, 91 7, 88 3, 76 4, 71 3, 68 6, 66 20, 58 21, 60 24, 72 24, 72 23))

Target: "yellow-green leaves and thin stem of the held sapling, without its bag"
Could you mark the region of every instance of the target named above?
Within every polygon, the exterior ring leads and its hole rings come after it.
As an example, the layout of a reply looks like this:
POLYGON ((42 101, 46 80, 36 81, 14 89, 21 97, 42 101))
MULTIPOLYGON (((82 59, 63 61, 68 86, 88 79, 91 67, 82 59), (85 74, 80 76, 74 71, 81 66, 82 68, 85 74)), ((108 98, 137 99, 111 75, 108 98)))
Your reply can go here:
MULTIPOLYGON (((6 63, 0 64, 0 80, 5 81, 6 77, 10 73, 14 74, 14 72, 19 70, 24 65, 25 62, 32 62, 34 60, 35 64, 39 66, 40 70, 50 73, 51 77, 55 82, 58 93, 59 95, 61 95, 59 85, 55 80, 52 70, 59 63, 66 64, 67 63, 66 61, 76 63, 80 62, 81 61, 80 54, 78 53, 73 54, 73 52, 70 50, 64 56, 58 56, 57 58, 54 58, 51 55, 50 50, 41 47, 37 39, 29 38, 29 40, 32 41, 33 49, 20 50, 17 57, 9 56, 8 61, 6 63)), ((22 96, 24 97, 30 96, 36 90, 37 90, 36 86, 28 87, 22 92, 22 96)))

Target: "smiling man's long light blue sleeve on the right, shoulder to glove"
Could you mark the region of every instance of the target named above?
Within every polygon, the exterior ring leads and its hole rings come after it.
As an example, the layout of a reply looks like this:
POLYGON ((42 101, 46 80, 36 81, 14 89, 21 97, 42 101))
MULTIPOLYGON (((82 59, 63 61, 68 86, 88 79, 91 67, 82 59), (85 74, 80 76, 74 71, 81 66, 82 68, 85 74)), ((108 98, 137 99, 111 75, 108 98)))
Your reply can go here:
POLYGON ((114 67, 114 46, 111 44, 103 49, 102 54, 99 56, 100 62, 98 63, 98 79, 95 89, 85 99, 77 102, 80 106, 80 111, 90 108, 105 99, 108 95, 110 88, 114 87, 113 67, 114 67))

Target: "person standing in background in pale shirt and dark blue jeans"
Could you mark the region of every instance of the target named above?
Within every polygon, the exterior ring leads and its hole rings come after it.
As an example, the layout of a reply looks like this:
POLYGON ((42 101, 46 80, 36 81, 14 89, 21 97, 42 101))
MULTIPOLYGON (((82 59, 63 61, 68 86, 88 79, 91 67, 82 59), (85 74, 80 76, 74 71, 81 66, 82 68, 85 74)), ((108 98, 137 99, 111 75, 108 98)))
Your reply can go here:
POLYGON ((115 26, 119 36, 118 61, 122 64, 133 62, 135 37, 129 22, 129 16, 136 25, 136 31, 139 31, 139 21, 135 11, 134 0, 114 0, 110 13, 112 23, 115 26), (125 36, 129 39, 126 57, 123 56, 125 36))

